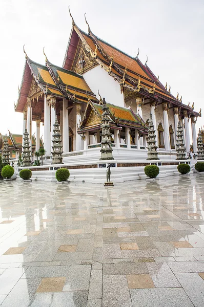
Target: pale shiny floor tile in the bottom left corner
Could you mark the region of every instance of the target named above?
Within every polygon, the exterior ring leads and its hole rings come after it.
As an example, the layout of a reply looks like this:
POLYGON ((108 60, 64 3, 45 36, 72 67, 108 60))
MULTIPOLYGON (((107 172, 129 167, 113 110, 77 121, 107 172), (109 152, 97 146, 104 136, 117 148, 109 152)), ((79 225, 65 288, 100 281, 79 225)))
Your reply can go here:
POLYGON ((27 307, 37 290, 39 282, 40 278, 19 279, 2 306, 27 307))

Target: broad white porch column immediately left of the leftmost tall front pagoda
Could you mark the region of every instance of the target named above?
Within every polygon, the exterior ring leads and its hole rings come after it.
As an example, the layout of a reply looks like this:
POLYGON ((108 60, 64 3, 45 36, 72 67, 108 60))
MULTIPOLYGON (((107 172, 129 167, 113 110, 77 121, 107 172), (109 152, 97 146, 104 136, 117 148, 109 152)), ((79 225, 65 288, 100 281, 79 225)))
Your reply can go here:
POLYGON ((46 156, 50 156, 50 106, 46 95, 44 98, 44 148, 46 156))

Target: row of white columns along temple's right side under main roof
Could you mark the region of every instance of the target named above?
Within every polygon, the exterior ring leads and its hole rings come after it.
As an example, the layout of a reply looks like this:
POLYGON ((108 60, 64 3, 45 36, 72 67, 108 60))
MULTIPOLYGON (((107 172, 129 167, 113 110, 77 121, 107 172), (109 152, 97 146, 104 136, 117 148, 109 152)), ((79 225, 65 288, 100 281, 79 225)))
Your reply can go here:
MULTIPOLYGON (((142 97, 137 97, 136 98, 136 104, 137 104, 137 113, 141 116, 142 118, 142 97)), ((158 142, 158 131, 156 129, 156 114, 155 114, 155 101, 150 100, 150 113, 152 114, 152 121, 155 129, 155 135, 156 135, 156 141, 158 142)), ((163 107, 163 119, 164 119, 164 140, 165 140, 165 149, 166 151, 171 150, 171 144, 170 144, 170 135, 169 135, 169 118, 168 118, 168 110, 169 106, 167 102, 162 103, 163 107)), ((175 134, 177 131, 178 127, 178 107, 174 107, 174 124, 175 124, 175 134)), ((190 151, 190 131, 189 131, 189 119, 188 119, 188 113, 187 111, 183 111, 184 115, 184 124, 185 124, 185 143, 186 143, 186 149, 187 152, 189 153, 190 151)), ((193 139, 193 151, 196 153, 197 152, 197 137, 196 137, 196 129, 195 129, 195 117, 191 117, 191 129, 192 129, 192 139, 193 139)))

